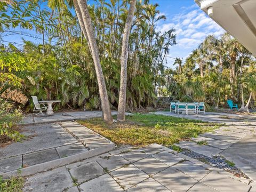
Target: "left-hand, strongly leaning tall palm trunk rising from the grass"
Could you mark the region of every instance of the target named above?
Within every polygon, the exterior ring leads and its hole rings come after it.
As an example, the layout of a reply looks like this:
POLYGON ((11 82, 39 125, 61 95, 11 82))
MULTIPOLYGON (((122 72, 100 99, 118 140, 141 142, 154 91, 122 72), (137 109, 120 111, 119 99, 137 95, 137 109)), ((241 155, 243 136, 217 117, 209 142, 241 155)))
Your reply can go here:
POLYGON ((97 43, 96 43, 96 40, 94 37, 92 21, 91 21, 89 11, 87 9, 87 3, 84 0, 73 0, 73 1, 74 1, 74 4, 78 4, 77 8, 81 11, 84 27, 85 27, 87 37, 88 37, 88 43, 90 44, 89 47, 91 47, 92 59, 94 62, 94 67, 95 67, 98 86, 99 86, 103 118, 105 119, 105 121, 107 123, 113 123, 113 118, 111 116, 111 110, 110 110, 110 105, 109 105, 109 101, 108 101, 108 93, 107 93, 107 88, 106 88, 106 84, 105 84, 105 79, 104 79, 104 76, 102 73, 102 68, 100 65, 99 50, 98 50, 98 46, 97 46, 97 43))

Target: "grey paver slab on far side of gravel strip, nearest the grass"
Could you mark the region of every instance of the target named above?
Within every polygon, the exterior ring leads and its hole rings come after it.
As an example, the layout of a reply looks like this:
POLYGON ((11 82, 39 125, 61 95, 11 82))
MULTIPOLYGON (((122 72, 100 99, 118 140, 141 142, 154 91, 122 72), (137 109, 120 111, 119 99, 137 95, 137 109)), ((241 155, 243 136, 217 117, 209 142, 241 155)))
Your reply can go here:
POLYGON ((205 155, 207 157, 212 157, 222 152, 221 149, 217 149, 217 148, 206 146, 206 145, 200 146, 200 145, 197 145, 197 143, 191 142, 191 141, 182 141, 175 145, 181 148, 195 151, 196 153, 205 155))

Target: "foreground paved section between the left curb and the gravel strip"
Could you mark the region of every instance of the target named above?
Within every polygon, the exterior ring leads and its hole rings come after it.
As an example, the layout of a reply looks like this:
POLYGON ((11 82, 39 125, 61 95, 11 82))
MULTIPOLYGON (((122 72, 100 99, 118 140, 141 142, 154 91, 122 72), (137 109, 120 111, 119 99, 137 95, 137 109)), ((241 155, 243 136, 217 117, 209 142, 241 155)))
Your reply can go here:
POLYGON ((128 147, 28 178, 24 191, 249 191, 248 183, 223 170, 189 161, 176 151, 150 145, 150 154, 131 163, 124 157, 140 149, 128 147), (156 149, 154 151, 154 148, 156 149), (159 151, 159 149, 162 149, 159 151), (162 154, 161 154, 162 153, 162 154), (160 158, 164 157, 163 161, 160 158), (169 154, 169 158, 166 158, 169 154), (114 160, 116 159, 116 161, 114 160), (150 166, 151 165, 151 166, 150 166), (60 179, 61 178, 61 179, 60 179), (76 186, 73 184, 76 182, 76 186), (59 183, 56 185, 56 183, 59 183), (61 183, 65 183, 62 185, 61 183), (43 187, 42 187, 43 186, 43 187))

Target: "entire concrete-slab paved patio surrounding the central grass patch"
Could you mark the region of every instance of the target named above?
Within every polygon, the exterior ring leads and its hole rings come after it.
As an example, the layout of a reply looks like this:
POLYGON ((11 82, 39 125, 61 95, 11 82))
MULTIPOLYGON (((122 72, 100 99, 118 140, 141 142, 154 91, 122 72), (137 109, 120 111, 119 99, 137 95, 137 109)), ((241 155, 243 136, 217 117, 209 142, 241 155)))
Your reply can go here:
MULTIPOLYGON (((76 113, 80 117, 83 113, 87 117, 100 114, 98 111, 92 114, 78 112, 76 113)), ((166 112, 157 112, 157 114, 177 115, 166 112)), ((222 119, 221 116, 222 114, 214 113, 185 116, 215 123, 225 122, 227 126, 220 127, 215 133, 205 133, 198 138, 193 138, 192 141, 183 141, 178 145, 207 156, 221 154, 233 161, 250 179, 234 177, 231 173, 154 144, 143 148, 108 149, 107 153, 100 151, 101 155, 95 154, 83 161, 58 164, 53 170, 28 177, 23 190, 256 191, 254 182, 256 122, 253 121, 252 116, 245 116, 245 121, 241 121, 242 116, 229 114, 229 119, 222 119), (207 141, 207 145, 197 145, 197 141, 204 140, 207 141)), ((21 165, 29 167, 35 162, 54 162, 56 159, 73 158, 74 155, 97 150, 109 144, 109 141, 101 135, 85 129, 76 122, 67 121, 72 119, 65 119, 66 117, 62 119, 57 114, 57 119, 54 121, 60 123, 30 125, 30 121, 24 127, 25 133, 34 137, 23 143, 15 143, 24 148, 16 150, 17 148, 10 145, 1 150, 1 174, 17 170, 21 165), (33 138, 40 139, 42 142, 36 145, 33 138)), ((47 122, 47 119, 39 120, 43 123, 47 122)), ((33 121, 40 122, 38 119, 33 121)))

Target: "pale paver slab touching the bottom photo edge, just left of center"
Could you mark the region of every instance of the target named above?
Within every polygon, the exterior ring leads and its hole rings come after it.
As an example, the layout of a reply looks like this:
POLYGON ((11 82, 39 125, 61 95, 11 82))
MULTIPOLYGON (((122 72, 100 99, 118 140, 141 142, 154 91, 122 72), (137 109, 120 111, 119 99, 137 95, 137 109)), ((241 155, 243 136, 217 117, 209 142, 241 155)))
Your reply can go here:
POLYGON ((109 175, 105 174, 93 180, 83 183, 79 187, 86 192, 113 192, 124 191, 121 186, 109 175))

